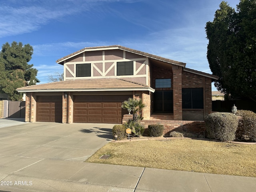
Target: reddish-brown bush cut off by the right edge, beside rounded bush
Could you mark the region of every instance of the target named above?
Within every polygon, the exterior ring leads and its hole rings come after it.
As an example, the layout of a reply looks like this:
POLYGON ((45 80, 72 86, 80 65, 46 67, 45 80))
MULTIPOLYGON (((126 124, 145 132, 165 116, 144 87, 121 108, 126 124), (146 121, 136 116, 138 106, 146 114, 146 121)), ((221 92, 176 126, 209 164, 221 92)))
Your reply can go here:
POLYGON ((238 110, 237 116, 241 116, 236 130, 237 139, 247 137, 251 141, 256 141, 256 114, 252 111, 238 110))

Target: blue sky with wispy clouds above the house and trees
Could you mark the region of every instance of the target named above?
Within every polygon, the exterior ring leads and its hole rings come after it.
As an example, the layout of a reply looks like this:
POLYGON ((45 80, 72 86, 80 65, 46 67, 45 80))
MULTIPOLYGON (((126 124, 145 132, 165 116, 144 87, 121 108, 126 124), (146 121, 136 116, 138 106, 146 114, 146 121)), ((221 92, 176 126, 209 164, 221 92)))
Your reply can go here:
MULTIPOLYGON (((226 0, 236 8, 239 0, 226 0)), ((212 73, 206 22, 221 0, 0 0, 0 45, 30 44, 40 83, 84 47, 122 45, 212 73)), ((214 87, 213 90, 216 90, 214 87)))

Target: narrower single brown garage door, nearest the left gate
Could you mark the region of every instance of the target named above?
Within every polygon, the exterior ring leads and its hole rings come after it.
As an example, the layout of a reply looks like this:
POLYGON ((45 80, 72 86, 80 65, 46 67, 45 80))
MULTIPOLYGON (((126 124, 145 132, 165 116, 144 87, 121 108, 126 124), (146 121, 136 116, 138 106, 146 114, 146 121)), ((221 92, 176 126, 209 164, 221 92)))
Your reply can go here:
POLYGON ((36 121, 62 122, 62 96, 37 96, 36 121))

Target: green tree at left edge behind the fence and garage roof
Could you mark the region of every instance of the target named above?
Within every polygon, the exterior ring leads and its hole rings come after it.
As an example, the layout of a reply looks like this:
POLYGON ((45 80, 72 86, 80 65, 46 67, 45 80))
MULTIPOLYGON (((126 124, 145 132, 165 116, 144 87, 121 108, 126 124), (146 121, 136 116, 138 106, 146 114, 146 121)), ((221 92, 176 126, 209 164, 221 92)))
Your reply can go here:
POLYGON ((0 91, 8 94, 11 100, 21 100, 23 94, 16 88, 34 85, 36 83, 37 70, 33 64, 28 64, 32 58, 33 48, 29 44, 21 42, 4 44, 0 52, 0 91))

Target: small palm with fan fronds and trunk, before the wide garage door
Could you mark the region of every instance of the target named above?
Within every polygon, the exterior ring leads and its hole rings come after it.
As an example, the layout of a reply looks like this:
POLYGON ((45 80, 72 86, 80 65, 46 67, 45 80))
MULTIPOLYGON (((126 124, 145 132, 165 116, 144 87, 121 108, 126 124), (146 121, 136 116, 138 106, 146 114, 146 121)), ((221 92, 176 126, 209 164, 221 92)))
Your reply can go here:
POLYGON ((137 122, 139 120, 138 112, 145 107, 145 104, 142 103, 142 100, 128 98, 128 100, 122 102, 123 109, 132 111, 133 120, 137 122))

